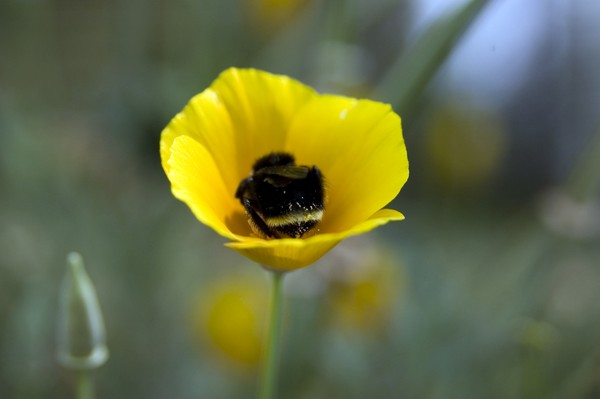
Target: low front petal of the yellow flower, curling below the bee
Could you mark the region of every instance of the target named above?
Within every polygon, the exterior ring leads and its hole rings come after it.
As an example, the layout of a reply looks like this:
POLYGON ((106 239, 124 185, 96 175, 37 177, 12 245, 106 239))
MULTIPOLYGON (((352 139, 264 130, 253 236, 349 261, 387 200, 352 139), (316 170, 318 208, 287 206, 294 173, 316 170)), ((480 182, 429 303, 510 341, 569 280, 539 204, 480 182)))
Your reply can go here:
POLYGON ((246 239, 225 245, 269 269, 290 271, 314 263, 346 237, 365 233, 390 221, 403 219, 404 216, 398 211, 382 209, 362 223, 341 233, 317 234, 306 239, 246 239))

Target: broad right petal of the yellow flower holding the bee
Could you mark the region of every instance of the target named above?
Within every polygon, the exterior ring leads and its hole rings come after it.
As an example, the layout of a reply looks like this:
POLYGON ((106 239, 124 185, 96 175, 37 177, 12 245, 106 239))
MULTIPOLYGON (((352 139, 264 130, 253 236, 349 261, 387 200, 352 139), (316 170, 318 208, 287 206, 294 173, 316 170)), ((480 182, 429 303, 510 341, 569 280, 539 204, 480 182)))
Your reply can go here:
POLYGON ((387 104, 322 95, 299 110, 286 151, 325 177, 322 233, 342 233, 388 204, 408 179, 400 118, 387 104))

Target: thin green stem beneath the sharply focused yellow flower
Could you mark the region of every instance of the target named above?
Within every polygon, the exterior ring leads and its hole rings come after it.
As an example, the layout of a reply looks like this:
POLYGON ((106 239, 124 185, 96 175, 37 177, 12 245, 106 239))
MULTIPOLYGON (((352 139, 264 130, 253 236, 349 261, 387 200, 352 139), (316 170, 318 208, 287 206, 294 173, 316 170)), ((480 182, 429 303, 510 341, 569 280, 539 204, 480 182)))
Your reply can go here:
POLYGON ((272 272, 273 288, 269 309, 269 330, 265 348, 260 386, 260 399, 274 398, 281 346, 282 285, 284 273, 272 272))

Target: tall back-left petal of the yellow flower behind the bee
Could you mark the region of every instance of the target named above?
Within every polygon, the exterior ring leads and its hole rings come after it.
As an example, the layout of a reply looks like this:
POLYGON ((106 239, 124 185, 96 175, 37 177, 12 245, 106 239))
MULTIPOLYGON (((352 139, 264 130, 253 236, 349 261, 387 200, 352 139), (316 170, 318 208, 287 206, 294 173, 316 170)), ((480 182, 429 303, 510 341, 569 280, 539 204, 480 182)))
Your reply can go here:
MULTIPOLYGON (((224 189, 234 199, 252 164, 270 152, 283 149, 294 114, 315 96, 310 87, 287 76, 230 68, 211 87, 192 98, 163 130, 160 142, 163 168, 169 175, 174 140, 190 137, 213 158, 224 189)), ((197 183, 210 189, 206 180, 212 181, 213 176, 205 177, 203 170, 196 172, 197 183)), ((230 217, 243 214, 238 201, 225 201, 222 206, 227 206, 222 213, 230 217)))

